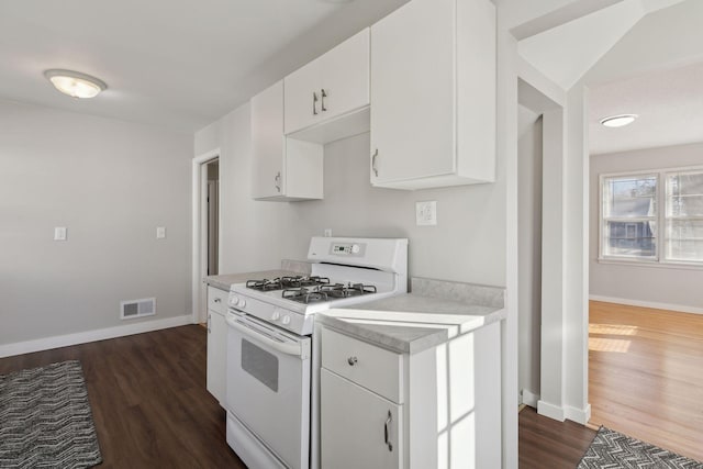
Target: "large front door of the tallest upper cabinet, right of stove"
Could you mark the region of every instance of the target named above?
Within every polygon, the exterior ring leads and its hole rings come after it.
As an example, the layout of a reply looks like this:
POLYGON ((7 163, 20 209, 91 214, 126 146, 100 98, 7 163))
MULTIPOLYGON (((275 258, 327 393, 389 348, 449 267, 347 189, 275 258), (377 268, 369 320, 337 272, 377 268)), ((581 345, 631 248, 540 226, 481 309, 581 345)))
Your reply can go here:
POLYGON ((372 183, 456 169, 455 8, 413 0, 371 26, 372 183))

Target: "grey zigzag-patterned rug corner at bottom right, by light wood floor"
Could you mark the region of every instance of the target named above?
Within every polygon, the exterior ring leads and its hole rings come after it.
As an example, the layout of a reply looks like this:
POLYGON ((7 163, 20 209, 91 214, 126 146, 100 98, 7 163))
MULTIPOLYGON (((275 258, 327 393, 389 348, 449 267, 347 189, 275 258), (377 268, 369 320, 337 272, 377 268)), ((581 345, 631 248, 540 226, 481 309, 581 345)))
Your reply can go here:
POLYGON ((602 426, 577 469, 703 469, 703 464, 602 426))

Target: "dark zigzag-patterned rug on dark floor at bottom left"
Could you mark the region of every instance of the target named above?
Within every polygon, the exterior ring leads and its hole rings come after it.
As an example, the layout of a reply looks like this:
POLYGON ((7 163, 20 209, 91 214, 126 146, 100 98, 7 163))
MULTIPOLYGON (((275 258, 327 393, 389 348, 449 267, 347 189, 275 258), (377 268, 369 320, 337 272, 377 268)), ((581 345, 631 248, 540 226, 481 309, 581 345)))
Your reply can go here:
POLYGON ((0 376, 0 468, 101 461, 80 361, 0 376))

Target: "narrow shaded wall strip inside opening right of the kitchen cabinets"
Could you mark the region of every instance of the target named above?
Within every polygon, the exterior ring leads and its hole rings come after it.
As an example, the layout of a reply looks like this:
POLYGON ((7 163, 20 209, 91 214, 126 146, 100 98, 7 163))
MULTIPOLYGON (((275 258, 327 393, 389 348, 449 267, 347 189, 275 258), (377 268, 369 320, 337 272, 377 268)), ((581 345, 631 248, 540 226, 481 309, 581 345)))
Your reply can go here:
POLYGON ((542 119, 520 107, 517 141, 520 389, 523 402, 539 397, 542 324, 542 119), (532 394, 532 395, 531 395, 532 394))

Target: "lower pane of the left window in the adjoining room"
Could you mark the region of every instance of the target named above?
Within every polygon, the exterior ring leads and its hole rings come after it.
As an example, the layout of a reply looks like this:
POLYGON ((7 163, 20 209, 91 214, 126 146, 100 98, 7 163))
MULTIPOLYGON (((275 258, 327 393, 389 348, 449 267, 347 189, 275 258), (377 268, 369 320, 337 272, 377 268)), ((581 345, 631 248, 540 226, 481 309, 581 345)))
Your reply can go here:
POLYGON ((657 255, 656 222, 605 222, 604 256, 651 257, 657 255))

